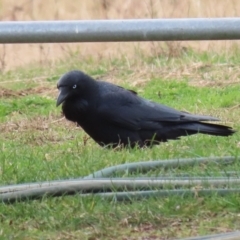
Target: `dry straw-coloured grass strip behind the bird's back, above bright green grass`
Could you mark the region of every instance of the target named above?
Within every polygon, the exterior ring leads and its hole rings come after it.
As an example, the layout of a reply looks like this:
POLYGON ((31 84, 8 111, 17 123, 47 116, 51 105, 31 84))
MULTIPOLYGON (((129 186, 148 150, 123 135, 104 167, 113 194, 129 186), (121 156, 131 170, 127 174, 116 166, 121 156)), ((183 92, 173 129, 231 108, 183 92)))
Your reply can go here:
MULTIPOLYGON (((141 88, 152 77, 157 77, 163 80, 183 79, 184 77, 189 79, 189 84, 197 87, 217 87, 228 86, 240 83, 240 67, 233 64, 216 64, 205 63, 202 61, 174 61, 169 62, 164 66, 158 64, 144 64, 139 62, 137 64, 131 64, 129 68, 134 69, 131 74, 127 74, 126 81, 132 87, 136 87, 138 92, 141 92, 141 88)), ((106 81, 113 82, 115 84, 121 84, 122 79, 118 76, 118 72, 123 71, 121 68, 112 69, 108 71, 107 75, 102 76, 106 81)))

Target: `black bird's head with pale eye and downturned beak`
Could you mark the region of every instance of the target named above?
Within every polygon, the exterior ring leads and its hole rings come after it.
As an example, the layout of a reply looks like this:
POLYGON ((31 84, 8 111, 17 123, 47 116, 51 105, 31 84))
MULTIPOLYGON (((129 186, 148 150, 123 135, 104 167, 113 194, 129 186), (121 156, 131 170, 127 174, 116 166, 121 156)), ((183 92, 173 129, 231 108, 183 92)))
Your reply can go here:
POLYGON ((57 106, 68 99, 86 94, 87 88, 92 82, 94 80, 81 71, 70 71, 64 74, 57 83, 59 90, 57 106))

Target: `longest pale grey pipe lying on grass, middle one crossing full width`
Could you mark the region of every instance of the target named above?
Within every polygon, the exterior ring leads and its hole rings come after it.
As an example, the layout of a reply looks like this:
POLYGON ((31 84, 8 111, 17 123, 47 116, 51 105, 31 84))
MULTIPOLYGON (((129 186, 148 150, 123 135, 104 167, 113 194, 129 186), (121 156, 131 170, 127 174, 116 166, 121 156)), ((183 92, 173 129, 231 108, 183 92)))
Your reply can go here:
POLYGON ((9 185, 0 188, 0 198, 2 195, 20 191, 94 191, 101 189, 137 189, 137 188, 162 188, 172 187, 190 187, 211 185, 212 187, 230 186, 231 184, 240 184, 239 178, 220 178, 220 179, 73 179, 67 181, 51 181, 40 183, 26 183, 19 185, 9 185))

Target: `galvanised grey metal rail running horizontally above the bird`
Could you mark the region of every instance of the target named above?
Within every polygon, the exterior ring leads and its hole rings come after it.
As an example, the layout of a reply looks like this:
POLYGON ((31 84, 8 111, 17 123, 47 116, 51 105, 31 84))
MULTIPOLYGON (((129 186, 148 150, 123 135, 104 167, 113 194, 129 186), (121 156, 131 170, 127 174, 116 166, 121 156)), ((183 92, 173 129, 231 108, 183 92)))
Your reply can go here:
POLYGON ((0 43, 240 39, 240 18, 1 22, 0 43))

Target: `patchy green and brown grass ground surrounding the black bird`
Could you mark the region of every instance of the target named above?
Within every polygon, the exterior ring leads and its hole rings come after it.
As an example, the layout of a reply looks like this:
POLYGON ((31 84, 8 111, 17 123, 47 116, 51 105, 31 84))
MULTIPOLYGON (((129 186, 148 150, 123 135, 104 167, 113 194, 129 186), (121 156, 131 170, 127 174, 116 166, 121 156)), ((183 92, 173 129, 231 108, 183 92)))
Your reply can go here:
MULTIPOLYGON (((152 149, 100 148, 55 107, 56 81, 70 69, 136 90, 174 108, 222 119, 239 130, 239 54, 184 52, 98 60, 71 58, 0 76, 0 184, 77 178, 101 168, 140 160, 239 156, 239 134, 197 135, 152 149), (81 61, 80 61, 81 60, 81 61)), ((238 171, 231 166, 175 169, 191 175, 238 171)), ((168 172, 160 171, 162 174, 168 172)), ((172 239, 239 228, 239 195, 151 198, 131 203, 96 196, 63 196, 0 205, 0 239, 172 239)))

